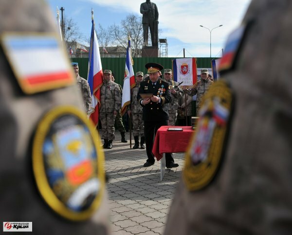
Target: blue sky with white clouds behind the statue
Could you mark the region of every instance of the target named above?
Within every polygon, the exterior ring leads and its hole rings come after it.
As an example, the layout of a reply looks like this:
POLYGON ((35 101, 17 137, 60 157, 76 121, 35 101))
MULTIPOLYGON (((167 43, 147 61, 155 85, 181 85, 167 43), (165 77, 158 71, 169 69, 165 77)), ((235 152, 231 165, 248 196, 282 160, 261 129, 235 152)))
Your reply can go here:
MULTIPOLYGON (((152 0, 151 0, 152 1, 152 0)), ((141 16, 145 0, 47 0, 52 14, 65 8, 63 16, 72 18, 85 38, 91 34, 91 8, 95 25, 119 25, 129 14, 141 16)), ((159 12, 159 38, 166 38, 168 57, 222 56, 227 36, 240 25, 251 0, 153 0, 159 12), (200 25, 208 28, 202 28, 200 25), (223 25, 219 28, 215 27, 223 25)), ((61 12, 60 12, 61 17, 61 12)), ((97 30, 97 27, 96 27, 97 30)), ((98 34, 98 31, 96 32, 98 34)), ((86 43, 85 43, 86 44, 86 43)), ((88 46, 88 45, 86 45, 88 46)))

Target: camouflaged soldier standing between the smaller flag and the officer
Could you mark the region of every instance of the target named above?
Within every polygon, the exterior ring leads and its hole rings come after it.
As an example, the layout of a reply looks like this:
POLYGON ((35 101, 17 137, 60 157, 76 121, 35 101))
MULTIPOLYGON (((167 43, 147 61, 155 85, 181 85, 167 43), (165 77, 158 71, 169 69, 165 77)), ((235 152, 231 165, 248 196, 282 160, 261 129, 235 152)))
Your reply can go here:
POLYGON ((133 150, 139 148, 139 135, 141 136, 141 149, 145 149, 144 121, 142 119, 143 108, 137 101, 137 94, 142 80, 143 72, 137 72, 136 85, 131 90, 131 109, 128 110, 128 116, 132 117, 133 123, 133 134, 135 140, 133 150))

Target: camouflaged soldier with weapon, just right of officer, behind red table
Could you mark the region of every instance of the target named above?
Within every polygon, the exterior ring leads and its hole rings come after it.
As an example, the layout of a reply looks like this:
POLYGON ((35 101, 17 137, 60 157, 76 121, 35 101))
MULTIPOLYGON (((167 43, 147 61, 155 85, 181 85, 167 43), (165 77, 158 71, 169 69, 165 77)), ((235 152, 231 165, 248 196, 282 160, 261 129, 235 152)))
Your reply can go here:
POLYGON ((164 69, 164 80, 170 85, 171 102, 167 104, 169 114, 169 126, 175 126, 178 116, 178 99, 182 97, 182 88, 172 79, 172 71, 169 68, 164 69), (177 86, 175 89, 173 87, 177 86))

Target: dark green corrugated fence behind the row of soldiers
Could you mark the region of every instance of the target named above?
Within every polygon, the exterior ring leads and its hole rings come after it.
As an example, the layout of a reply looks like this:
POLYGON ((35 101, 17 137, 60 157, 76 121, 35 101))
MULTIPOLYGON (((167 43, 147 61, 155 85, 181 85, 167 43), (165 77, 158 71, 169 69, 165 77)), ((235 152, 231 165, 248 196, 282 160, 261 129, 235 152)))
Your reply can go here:
MULTIPOLYGON (((147 73, 145 65, 149 62, 161 64, 164 68, 172 67, 172 60, 178 58, 133 58, 133 69, 134 73, 142 71, 147 73)), ((212 58, 213 59, 213 58, 212 58)), ((214 58, 217 59, 217 58, 214 58)), ((79 75, 87 79, 88 73, 88 58, 72 58, 72 62, 77 62, 79 65, 79 75)), ((102 68, 110 69, 116 75, 116 83, 123 85, 126 58, 101 58, 102 68)), ((211 58, 209 57, 199 57, 197 58, 197 67, 210 68, 211 58)))

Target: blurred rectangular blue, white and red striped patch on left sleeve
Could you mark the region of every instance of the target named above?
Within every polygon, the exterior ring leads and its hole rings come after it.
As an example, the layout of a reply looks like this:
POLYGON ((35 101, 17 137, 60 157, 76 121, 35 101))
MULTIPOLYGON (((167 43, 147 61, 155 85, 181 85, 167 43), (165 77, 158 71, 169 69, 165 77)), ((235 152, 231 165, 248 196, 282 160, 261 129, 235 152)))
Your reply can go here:
POLYGON ((0 41, 24 93, 34 94, 75 83, 72 68, 55 34, 4 33, 0 41))

